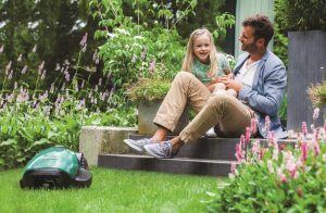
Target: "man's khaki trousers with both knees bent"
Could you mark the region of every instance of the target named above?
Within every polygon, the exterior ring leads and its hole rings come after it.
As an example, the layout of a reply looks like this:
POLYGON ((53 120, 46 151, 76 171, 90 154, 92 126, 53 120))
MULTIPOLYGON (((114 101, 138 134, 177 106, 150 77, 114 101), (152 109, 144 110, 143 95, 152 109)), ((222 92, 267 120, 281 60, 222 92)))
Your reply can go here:
POLYGON ((250 126, 252 110, 237 98, 210 90, 191 73, 179 72, 172 83, 155 117, 154 124, 173 130, 187 104, 197 112, 196 117, 179 134, 184 142, 199 138, 212 126, 222 137, 239 137, 250 126))

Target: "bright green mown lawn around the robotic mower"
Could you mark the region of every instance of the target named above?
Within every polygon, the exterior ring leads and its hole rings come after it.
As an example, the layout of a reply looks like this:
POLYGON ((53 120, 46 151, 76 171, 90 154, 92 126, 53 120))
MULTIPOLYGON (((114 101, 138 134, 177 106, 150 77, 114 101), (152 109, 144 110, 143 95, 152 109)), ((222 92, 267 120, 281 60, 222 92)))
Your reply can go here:
POLYGON ((0 212, 202 212, 216 177, 92 167, 86 189, 22 190, 21 170, 0 172, 0 212))

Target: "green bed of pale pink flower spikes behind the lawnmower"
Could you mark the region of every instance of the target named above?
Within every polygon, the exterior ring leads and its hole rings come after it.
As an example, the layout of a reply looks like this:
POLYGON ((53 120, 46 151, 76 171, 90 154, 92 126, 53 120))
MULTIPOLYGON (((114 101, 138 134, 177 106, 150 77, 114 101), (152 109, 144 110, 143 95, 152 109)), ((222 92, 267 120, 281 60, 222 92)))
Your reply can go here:
MULTIPOLYGON (((45 91, 38 89, 46 76, 43 62, 38 67, 34 90, 26 83, 13 82, 11 62, 4 68, 0 90, 0 170, 20 166, 49 146, 78 150, 83 125, 136 125, 135 108, 122 105, 123 100, 113 89, 105 89, 101 78, 95 88, 89 85, 92 73, 87 80, 79 78, 79 59, 86 51, 87 37, 82 41, 76 71, 70 72, 68 64, 59 66, 58 77, 45 91)), ((93 58, 98 61, 97 55, 93 58)), ((24 71, 21 75, 29 74, 24 71)))

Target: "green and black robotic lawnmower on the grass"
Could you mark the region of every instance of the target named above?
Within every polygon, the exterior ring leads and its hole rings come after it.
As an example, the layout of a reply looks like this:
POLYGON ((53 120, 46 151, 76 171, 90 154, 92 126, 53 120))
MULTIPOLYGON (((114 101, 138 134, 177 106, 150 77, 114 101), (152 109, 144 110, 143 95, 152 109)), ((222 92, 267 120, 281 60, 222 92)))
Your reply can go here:
POLYGON ((83 153, 53 147, 37 153, 26 165, 21 188, 89 187, 92 176, 83 153))

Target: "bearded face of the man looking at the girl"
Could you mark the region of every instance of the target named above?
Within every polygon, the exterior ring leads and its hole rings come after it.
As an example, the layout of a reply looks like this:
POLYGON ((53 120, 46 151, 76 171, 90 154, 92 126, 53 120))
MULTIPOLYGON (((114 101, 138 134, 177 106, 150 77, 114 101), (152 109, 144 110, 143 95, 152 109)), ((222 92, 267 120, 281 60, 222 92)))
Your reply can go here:
POLYGON ((241 50, 253 53, 258 49, 256 40, 253 36, 254 28, 251 26, 243 26, 242 34, 239 37, 241 42, 241 50))

